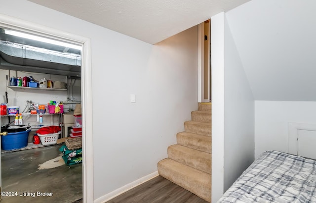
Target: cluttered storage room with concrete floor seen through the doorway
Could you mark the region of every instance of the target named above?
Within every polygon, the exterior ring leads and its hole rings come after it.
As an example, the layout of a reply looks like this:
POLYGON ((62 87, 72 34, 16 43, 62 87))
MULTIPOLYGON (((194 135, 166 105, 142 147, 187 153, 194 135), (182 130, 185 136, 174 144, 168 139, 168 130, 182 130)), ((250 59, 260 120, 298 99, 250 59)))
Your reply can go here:
POLYGON ((0 28, 1 202, 82 198, 80 50, 0 28))

